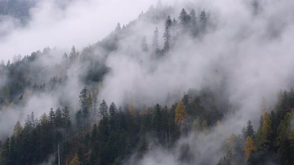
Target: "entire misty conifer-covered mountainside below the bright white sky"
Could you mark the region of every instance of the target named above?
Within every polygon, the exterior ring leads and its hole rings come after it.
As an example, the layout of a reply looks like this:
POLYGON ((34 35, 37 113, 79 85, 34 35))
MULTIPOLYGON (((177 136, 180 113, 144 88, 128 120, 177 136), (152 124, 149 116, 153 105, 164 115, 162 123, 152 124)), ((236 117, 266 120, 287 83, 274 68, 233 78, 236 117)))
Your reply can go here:
MULTIPOLYGON (((2 60, 0 165, 293 165, 284 1, 242 2, 231 20, 158 1, 82 49, 2 60)), ((22 26, 35 5, 1 3, 22 26)))

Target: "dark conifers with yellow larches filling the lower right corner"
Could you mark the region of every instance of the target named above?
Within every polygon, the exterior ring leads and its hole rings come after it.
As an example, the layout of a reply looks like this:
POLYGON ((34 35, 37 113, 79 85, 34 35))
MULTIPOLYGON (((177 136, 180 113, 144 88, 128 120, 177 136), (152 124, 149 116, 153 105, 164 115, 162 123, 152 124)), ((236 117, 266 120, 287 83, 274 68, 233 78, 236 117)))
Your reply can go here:
POLYGON ((228 139, 227 154, 218 165, 263 165, 294 163, 294 91, 281 92, 271 113, 262 104, 259 127, 254 131, 251 121, 241 134, 228 139))

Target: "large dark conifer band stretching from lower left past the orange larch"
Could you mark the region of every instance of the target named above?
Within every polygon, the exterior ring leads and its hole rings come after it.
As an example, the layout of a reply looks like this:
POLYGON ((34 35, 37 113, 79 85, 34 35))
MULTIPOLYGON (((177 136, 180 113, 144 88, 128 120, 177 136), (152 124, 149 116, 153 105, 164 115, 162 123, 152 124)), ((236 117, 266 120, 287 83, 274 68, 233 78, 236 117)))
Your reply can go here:
MULTIPOLYGON (((48 161, 52 155, 57 163, 58 146, 62 164, 120 164, 134 151, 141 158, 147 152, 150 140, 168 150, 181 135, 189 136, 193 128, 205 131, 222 117, 219 111, 211 109, 215 107, 213 101, 206 102, 213 100, 211 93, 193 89, 183 96, 182 101, 170 107, 156 104, 140 108, 125 103, 117 108, 114 102, 108 106, 105 100, 98 106, 97 98, 93 99, 86 87, 79 98, 81 108, 76 112, 78 129, 72 129, 71 112, 66 106, 55 111, 51 108, 49 114, 43 114, 40 119, 35 118, 32 112, 27 116, 24 127, 17 122, 13 135, 3 143, 0 164, 39 164, 48 161), (204 107, 203 104, 209 106, 204 107)), ((188 144, 183 144, 181 153, 180 161, 192 160, 188 144)))

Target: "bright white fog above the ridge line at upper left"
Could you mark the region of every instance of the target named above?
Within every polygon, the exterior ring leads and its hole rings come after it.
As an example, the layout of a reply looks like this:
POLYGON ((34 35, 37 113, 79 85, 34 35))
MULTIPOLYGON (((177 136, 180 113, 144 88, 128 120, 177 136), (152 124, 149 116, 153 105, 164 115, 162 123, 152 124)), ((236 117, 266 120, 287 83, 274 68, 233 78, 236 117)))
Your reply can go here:
POLYGON ((93 44, 128 24, 157 0, 39 0, 24 26, 11 16, 0 17, 0 59, 30 55, 49 46, 69 50, 93 44))

